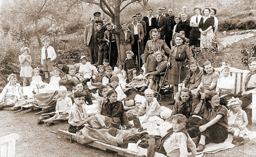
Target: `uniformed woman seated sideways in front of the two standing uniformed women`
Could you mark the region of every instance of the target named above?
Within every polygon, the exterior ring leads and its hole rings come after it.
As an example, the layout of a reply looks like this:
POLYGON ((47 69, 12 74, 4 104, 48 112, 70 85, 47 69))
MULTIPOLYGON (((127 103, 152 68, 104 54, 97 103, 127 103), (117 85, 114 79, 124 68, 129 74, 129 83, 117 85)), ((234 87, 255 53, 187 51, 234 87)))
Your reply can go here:
POLYGON ((153 72, 145 74, 148 79, 145 86, 141 88, 140 92, 143 92, 147 88, 153 89, 153 91, 156 92, 157 89, 155 87, 155 82, 159 81, 160 73, 165 72, 167 68, 168 61, 166 61, 164 53, 156 52, 155 57, 157 61, 157 67, 153 72))

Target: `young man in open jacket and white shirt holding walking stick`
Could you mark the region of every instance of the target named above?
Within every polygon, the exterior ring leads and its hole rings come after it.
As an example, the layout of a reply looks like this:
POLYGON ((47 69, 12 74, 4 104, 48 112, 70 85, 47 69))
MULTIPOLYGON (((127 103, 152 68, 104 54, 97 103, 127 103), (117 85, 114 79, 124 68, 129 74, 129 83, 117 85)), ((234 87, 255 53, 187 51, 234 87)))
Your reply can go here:
MULTIPOLYGON (((133 15, 133 21, 132 23, 129 23, 127 25, 127 28, 133 32, 134 37, 134 44, 132 45, 132 51, 134 53, 134 62, 136 62, 136 57, 139 59, 140 55, 143 54, 143 37, 144 37, 144 31, 143 26, 141 23, 138 22, 137 15, 133 15), (140 53, 139 53, 139 47, 140 47, 140 53)), ((139 63, 139 60, 138 60, 139 63)), ((140 59, 140 67, 142 67, 142 59, 140 59)))

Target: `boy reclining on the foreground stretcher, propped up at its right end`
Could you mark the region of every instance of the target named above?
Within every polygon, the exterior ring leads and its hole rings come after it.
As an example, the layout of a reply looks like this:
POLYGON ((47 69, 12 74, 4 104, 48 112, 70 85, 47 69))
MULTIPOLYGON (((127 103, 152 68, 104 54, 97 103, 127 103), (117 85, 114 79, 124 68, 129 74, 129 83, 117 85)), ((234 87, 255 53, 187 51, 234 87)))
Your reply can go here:
POLYGON ((128 143, 137 143, 139 140, 142 140, 139 146, 148 148, 147 157, 153 157, 155 151, 166 156, 195 157, 196 145, 185 128, 187 121, 186 116, 176 114, 171 120, 173 128, 169 129, 167 134, 163 137, 149 135, 147 133, 137 133, 122 138, 114 137, 108 132, 105 133, 105 137, 115 146, 126 146, 128 143), (190 152, 188 152, 188 150, 190 150, 190 152))

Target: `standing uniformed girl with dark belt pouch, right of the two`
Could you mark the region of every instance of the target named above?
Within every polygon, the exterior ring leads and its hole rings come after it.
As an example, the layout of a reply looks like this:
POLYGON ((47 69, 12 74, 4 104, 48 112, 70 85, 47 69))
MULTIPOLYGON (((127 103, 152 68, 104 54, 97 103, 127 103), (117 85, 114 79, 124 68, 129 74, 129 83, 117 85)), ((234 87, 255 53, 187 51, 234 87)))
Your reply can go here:
POLYGON ((167 66, 168 70, 168 83, 173 84, 174 95, 178 92, 178 84, 181 83, 186 77, 186 63, 185 61, 194 62, 193 54, 188 45, 185 44, 185 37, 181 33, 177 33, 174 37, 175 46, 171 47, 169 53, 169 60, 167 66))

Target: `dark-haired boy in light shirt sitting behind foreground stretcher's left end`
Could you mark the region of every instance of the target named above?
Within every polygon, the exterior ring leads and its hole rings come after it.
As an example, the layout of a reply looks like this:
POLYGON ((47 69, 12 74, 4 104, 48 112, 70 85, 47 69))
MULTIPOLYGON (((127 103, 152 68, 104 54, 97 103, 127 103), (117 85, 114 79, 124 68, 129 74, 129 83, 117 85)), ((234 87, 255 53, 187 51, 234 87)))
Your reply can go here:
POLYGON ((88 114, 86 113, 85 95, 81 91, 76 91, 73 94, 73 98, 74 104, 68 113, 68 123, 70 124, 68 131, 70 133, 76 133, 81 130, 87 122, 91 127, 96 128, 91 123, 94 116, 88 117, 88 114))

